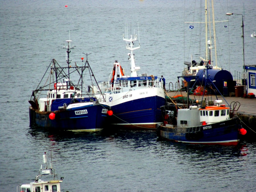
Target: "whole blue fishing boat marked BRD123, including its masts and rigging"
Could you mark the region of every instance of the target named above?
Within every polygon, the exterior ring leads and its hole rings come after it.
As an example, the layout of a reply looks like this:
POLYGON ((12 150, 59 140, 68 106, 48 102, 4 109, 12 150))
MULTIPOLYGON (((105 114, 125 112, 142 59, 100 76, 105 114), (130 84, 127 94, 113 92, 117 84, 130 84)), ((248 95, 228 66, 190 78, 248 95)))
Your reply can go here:
MULTIPOLYGON (((70 131, 100 131, 107 126, 109 106, 106 104, 105 95, 98 89, 99 101, 92 86, 84 85, 84 73, 94 77, 87 61, 79 66, 69 59, 71 40, 67 40, 67 67, 61 67, 55 59, 48 66, 46 73, 28 101, 30 125, 46 127, 56 130, 70 131), (74 84, 71 75, 78 73, 78 83, 74 84), (44 84, 41 84, 46 80, 44 84), (42 97, 43 96, 43 97, 42 97)), ((75 79, 76 77, 74 77, 75 79)), ((95 79, 94 79, 95 80, 95 79)), ((95 80, 96 84, 97 81, 95 80)))

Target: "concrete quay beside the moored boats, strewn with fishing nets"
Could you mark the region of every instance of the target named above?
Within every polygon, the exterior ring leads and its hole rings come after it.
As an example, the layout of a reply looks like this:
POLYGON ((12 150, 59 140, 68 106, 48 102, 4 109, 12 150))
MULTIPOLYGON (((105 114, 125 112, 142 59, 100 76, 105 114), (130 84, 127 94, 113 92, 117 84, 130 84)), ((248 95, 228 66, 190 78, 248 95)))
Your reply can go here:
MULTIPOLYGON (((166 94, 173 98, 177 95, 182 95, 183 97, 187 97, 187 92, 170 92, 167 91, 166 94)), ((196 95, 189 95, 190 99, 194 100, 202 100, 202 96, 196 96, 196 95)), ((228 97, 224 96, 224 98, 221 95, 217 95, 217 98, 215 95, 205 95, 203 100, 206 98, 206 104, 208 104, 208 101, 215 101, 222 100, 222 104, 225 104, 226 106, 231 107, 231 109, 234 109, 234 112, 238 115, 238 117, 242 121, 242 126, 247 130, 247 134, 245 139, 252 139, 255 141, 256 138, 256 98, 241 98, 241 97, 228 97), (234 102, 236 102, 236 106, 234 107, 234 102), (240 107, 239 107, 240 104, 240 107)))

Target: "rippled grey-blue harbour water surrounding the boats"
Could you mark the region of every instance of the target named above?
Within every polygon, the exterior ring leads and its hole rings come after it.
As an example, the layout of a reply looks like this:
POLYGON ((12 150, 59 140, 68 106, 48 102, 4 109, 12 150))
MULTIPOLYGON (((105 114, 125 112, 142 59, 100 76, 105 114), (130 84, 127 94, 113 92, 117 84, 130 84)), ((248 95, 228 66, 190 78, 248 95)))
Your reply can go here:
MULTIPOLYGON (((69 36, 76 46, 72 65, 81 64, 82 53, 92 53, 88 61, 97 80, 108 78, 115 60, 129 75, 122 36, 125 19, 137 34, 138 20, 140 72, 175 83, 183 61, 197 53, 198 43, 191 43, 199 38, 197 24, 192 33, 184 21, 198 21, 200 3, 0 0, 0 191, 16 191, 17 185, 33 181, 45 151, 52 151, 53 166, 64 177, 61 191, 255 191, 255 141, 194 146, 158 141, 152 130, 51 133, 29 127, 32 90, 51 59, 65 65, 62 47, 69 36)), ((256 31, 256 4, 228 0, 214 5, 215 20, 229 20, 216 24, 218 65, 234 75, 243 71, 241 15, 225 13, 245 15, 245 64, 251 65, 256 61, 256 38, 250 37, 256 31)))

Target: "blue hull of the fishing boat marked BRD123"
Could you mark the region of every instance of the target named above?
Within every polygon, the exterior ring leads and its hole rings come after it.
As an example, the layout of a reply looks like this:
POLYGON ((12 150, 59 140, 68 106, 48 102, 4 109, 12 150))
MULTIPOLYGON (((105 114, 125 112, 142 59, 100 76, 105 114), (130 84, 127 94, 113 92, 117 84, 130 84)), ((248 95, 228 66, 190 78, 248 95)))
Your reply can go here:
POLYGON ((102 110, 109 109, 104 105, 89 105, 67 110, 55 111, 55 119, 51 120, 51 112, 38 112, 29 108, 30 125, 54 130, 100 131, 106 127, 108 117, 102 110), (87 113, 76 115, 76 111, 87 110, 87 113))

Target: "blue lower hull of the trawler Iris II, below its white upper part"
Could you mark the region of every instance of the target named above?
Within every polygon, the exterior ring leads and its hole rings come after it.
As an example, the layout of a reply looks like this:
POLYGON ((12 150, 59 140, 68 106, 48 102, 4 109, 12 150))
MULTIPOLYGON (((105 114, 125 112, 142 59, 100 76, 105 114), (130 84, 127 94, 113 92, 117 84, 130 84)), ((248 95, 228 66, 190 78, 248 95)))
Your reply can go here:
POLYGON ((165 98, 153 96, 112 106, 114 115, 111 117, 111 124, 135 129, 155 129, 156 124, 163 123, 160 107, 165 102, 165 98))

